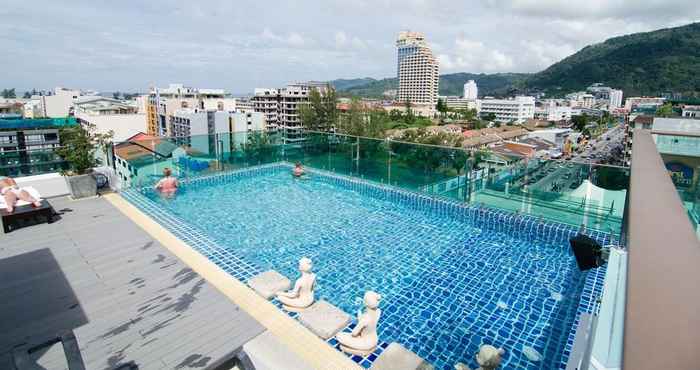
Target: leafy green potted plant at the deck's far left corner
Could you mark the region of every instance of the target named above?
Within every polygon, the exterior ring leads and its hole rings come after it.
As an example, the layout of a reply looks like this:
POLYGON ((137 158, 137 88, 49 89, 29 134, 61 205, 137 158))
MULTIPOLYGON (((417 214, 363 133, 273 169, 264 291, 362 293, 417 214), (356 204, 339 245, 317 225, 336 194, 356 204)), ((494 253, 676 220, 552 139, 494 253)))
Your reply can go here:
POLYGON ((77 125, 62 128, 59 132, 61 148, 57 150, 68 162, 68 169, 61 171, 73 199, 97 195, 97 182, 92 175, 93 168, 101 161, 95 156, 97 149, 103 149, 111 141, 113 133, 97 133, 95 125, 77 125))

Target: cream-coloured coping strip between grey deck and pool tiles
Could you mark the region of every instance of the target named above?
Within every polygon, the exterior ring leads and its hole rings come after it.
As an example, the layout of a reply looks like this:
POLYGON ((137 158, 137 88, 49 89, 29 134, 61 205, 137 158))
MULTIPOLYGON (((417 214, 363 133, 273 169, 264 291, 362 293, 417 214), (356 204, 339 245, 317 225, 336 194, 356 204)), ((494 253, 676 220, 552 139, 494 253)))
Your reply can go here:
POLYGON ((315 369, 362 369, 243 282, 180 240, 121 195, 104 198, 315 369))

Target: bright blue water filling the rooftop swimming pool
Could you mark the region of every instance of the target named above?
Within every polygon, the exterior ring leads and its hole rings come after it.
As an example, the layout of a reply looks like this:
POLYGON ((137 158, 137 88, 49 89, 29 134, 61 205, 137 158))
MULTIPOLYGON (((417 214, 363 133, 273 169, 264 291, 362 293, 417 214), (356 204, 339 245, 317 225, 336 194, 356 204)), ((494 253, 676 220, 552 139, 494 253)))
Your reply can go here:
POLYGON ((379 292, 380 339, 436 368, 476 367, 481 344, 506 350, 505 369, 560 367, 586 278, 565 241, 487 230, 286 169, 146 196, 261 271, 293 280, 310 257, 317 297, 353 316, 366 290, 379 292))

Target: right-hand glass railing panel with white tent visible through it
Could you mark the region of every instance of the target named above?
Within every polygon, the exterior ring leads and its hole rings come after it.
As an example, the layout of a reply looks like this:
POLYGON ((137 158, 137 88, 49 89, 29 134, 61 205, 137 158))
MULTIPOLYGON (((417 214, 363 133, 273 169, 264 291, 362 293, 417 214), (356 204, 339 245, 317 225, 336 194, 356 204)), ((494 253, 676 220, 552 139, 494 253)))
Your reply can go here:
POLYGON ((553 160, 530 160, 486 168, 484 186, 471 200, 506 209, 619 233, 629 169, 553 160))

